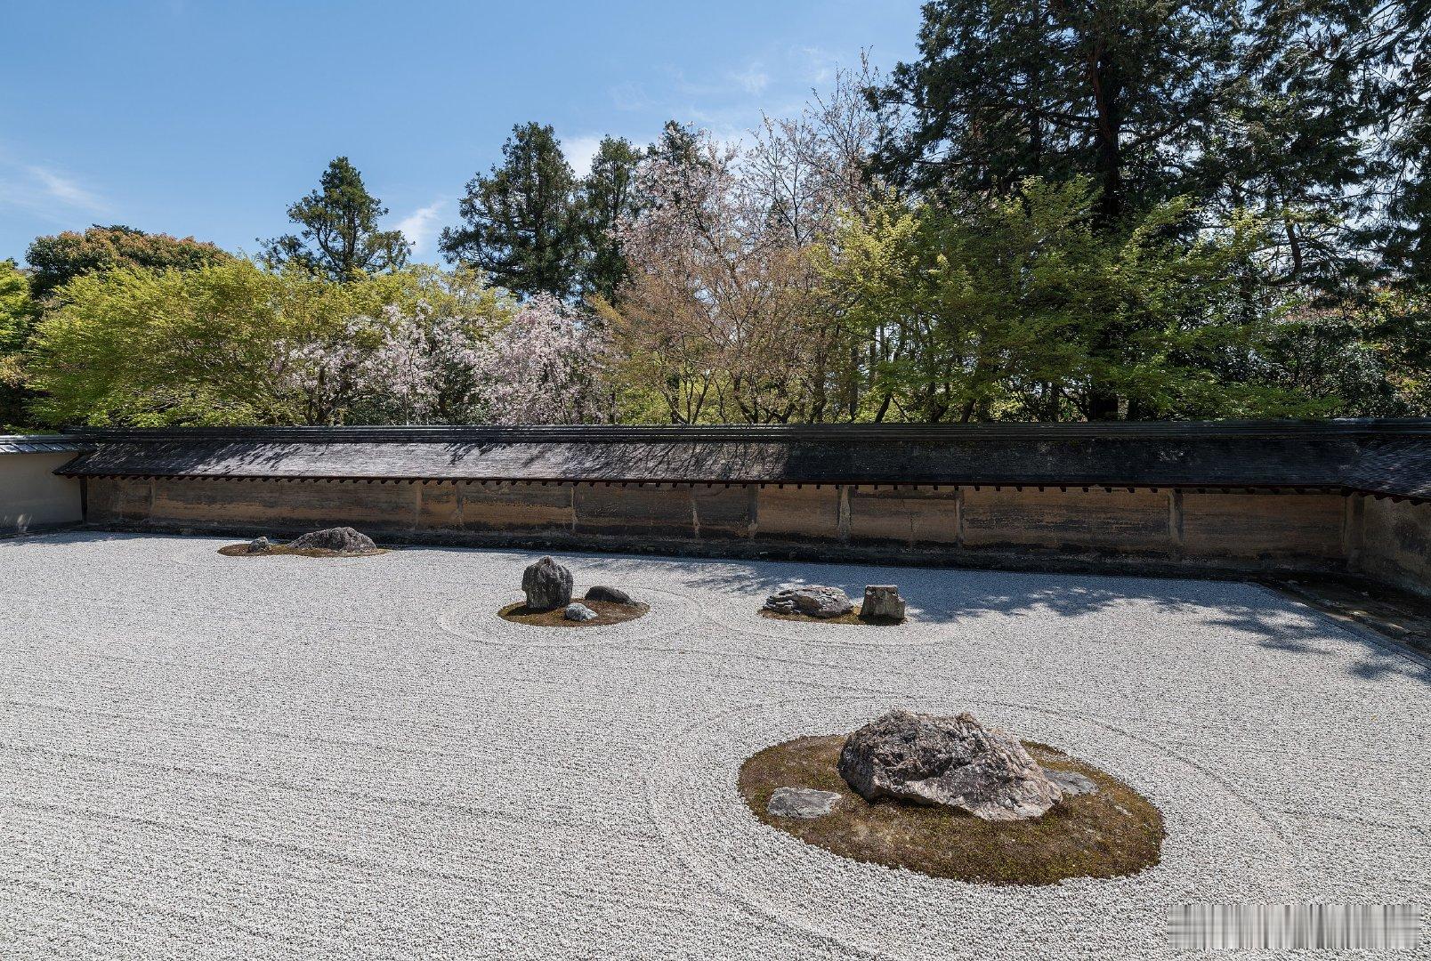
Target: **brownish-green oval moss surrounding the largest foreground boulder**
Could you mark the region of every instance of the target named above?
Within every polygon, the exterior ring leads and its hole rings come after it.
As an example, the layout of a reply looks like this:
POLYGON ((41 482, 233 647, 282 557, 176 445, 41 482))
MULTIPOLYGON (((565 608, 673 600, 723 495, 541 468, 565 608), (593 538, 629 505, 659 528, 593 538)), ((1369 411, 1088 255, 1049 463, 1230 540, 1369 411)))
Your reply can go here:
POLYGON ((1113 878, 1158 864, 1162 814, 1122 781, 1050 746, 1025 742, 1043 767, 1078 771, 1098 784, 1030 821, 980 821, 950 808, 894 801, 870 804, 844 782, 836 764, 844 735, 797 738, 766 748, 740 769, 740 794, 763 822, 806 844, 856 861, 909 868, 977 884, 1056 884, 1113 878), (823 818, 801 821, 766 812, 776 788, 819 788, 841 798, 823 818))

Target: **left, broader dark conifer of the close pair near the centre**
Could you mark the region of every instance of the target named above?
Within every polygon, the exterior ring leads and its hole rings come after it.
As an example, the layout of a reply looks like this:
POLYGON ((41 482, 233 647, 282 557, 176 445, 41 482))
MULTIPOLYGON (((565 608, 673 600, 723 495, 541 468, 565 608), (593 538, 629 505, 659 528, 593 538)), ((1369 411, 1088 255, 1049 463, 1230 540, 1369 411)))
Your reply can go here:
POLYGON ((467 184, 464 225, 442 230, 448 262, 475 266, 519 296, 570 300, 581 279, 577 176, 551 126, 512 127, 502 163, 467 184))

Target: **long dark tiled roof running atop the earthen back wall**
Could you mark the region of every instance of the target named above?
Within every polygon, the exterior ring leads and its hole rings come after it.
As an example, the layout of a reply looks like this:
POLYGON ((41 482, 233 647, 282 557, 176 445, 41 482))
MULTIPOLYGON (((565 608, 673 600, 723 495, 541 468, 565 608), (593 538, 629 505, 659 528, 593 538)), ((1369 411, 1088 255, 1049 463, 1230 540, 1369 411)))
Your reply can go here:
POLYGON ((1431 498, 1431 420, 100 432, 70 476, 1355 489, 1431 498))

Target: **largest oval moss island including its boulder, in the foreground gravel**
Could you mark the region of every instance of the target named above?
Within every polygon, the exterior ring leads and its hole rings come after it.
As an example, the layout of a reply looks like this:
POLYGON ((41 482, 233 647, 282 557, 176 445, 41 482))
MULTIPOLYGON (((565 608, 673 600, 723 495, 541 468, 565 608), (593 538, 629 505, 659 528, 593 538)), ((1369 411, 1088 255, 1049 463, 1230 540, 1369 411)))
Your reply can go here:
POLYGON ((1110 878, 1158 864, 1162 814, 1126 784, 972 715, 890 711, 847 736, 746 761, 773 828, 833 854, 996 885, 1110 878))

